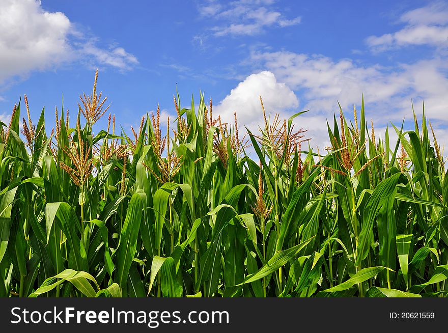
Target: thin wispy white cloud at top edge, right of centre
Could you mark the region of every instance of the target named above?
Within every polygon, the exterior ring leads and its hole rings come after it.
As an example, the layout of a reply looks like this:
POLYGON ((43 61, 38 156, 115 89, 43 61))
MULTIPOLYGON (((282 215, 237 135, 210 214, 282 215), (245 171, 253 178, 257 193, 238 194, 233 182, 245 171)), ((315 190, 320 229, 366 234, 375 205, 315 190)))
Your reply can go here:
POLYGON ((286 27, 300 23, 300 16, 286 18, 281 12, 272 9, 273 4, 273 0, 239 0, 228 3, 208 1, 198 10, 201 16, 213 17, 213 20, 222 22, 210 29, 217 37, 251 36, 262 33, 266 27, 286 27))

